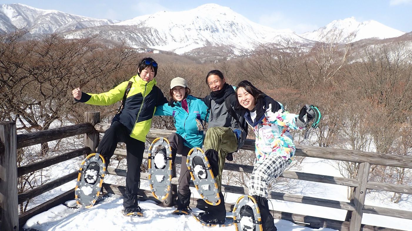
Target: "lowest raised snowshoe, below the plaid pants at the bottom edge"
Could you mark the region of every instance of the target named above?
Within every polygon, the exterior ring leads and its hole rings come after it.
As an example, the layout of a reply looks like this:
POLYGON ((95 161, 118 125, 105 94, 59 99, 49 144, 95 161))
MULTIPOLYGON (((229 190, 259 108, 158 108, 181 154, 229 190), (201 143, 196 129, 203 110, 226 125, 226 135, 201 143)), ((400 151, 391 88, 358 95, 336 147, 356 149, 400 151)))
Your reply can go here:
POLYGON ((263 231, 258 203, 253 196, 240 196, 232 213, 236 231, 263 231))

